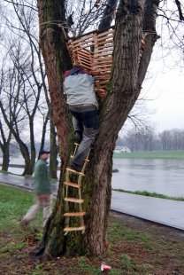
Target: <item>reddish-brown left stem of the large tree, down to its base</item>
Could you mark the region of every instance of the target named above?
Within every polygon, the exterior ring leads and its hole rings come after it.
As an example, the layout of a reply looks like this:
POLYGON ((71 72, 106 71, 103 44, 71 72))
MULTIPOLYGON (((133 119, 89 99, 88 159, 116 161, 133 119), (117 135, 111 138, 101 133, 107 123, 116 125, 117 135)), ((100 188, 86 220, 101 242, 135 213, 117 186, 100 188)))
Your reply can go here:
POLYGON ((65 22, 65 1, 40 0, 37 3, 40 22, 40 47, 49 81, 53 119, 58 131, 61 177, 56 208, 46 224, 39 248, 35 249, 33 253, 57 256, 65 253, 63 182, 65 167, 70 155, 69 135, 71 131, 71 121, 69 122, 65 97, 62 93, 62 74, 72 64, 66 49, 64 29, 58 25, 58 23, 64 24, 65 22))

